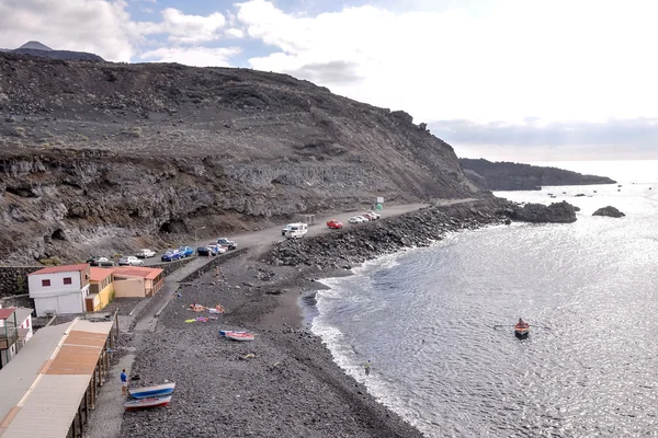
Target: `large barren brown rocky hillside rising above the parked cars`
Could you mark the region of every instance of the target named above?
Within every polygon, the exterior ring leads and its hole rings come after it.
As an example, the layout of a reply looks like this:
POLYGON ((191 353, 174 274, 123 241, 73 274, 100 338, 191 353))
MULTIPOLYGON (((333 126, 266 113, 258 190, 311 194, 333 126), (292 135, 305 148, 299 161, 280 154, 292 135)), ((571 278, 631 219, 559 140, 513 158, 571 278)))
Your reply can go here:
POLYGON ((288 76, 0 54, 5 262, 478 193, 408 114, 288 76))

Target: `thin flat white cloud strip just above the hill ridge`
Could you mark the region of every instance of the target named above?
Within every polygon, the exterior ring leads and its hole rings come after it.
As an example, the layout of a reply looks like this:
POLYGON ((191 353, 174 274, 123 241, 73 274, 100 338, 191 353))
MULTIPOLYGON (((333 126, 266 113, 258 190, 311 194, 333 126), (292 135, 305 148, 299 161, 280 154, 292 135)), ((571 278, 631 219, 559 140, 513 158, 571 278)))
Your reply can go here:
POLYGON ((162 47, 139 56, 149 62, 179 62, 196 67, 227 67, 229 59, 240 53, 236 47, 162 47))

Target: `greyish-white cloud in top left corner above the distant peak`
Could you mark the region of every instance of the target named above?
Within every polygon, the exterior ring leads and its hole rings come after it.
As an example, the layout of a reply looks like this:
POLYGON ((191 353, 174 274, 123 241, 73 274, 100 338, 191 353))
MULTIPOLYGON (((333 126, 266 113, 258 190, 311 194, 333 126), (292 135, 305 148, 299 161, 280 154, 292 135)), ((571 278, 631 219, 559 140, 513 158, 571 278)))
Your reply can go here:
POLYGON ((2 0, 0 41, 7 48, 38 41, 54 49, 129 61, 138 35, 126 7, 124 0, 2 0))

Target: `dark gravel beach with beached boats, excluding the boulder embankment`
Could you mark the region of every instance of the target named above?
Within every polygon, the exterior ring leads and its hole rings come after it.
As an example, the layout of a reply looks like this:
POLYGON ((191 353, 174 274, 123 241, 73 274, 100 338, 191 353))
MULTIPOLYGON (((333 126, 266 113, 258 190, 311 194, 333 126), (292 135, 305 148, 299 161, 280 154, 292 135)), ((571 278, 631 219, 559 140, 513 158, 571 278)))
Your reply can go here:
POLYGON ((226 280, 217 281, 213 272, 183 286, 156 333, 143 335, 133 367, 139 385, 169 380, 177 388, 169 407, 126 413, 122 437, 422 436, 344 374, 318 337, 299 328, 295 300, 286 297, 314 286, 307 273, 245 257, 222 270, 226 280), (188 310, 194 302, 222 303, 226 313, 188 310), (280 324, 265 318, 274 310, 280 324), (184 322, 201 315, 217 320, 184 322), (256 339, 235 343, 220 337, 219 328, 249 330, 256 339))

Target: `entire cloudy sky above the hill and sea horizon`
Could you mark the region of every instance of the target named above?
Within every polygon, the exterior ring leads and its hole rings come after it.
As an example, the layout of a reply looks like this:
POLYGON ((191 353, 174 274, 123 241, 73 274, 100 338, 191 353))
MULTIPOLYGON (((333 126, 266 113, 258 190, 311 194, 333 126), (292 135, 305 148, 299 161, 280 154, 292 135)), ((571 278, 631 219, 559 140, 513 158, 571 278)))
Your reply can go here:
POLYGON ((0 0, 0 47, 248 67, 404 110, 458 155, 658 159, 658 2, 0 0))

